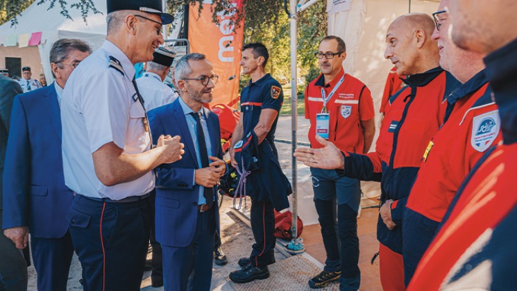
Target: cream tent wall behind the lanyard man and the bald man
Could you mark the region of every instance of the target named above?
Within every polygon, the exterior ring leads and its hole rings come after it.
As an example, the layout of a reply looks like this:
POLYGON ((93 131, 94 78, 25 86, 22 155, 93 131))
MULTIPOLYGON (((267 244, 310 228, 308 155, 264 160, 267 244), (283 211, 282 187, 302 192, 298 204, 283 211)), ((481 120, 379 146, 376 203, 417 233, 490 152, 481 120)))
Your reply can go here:
MULTIPOLYGON (((386 49, 386 31, 396 17, 408 13, 409 0, 347 0, 350 10, 332 13, 332 3, 327 1, 328 34, 337 35, 346 43, 346 60, 343 67, 348 74, 359 78, 371 90, 375 106, 375 124, 379 124, 380 101, 382 90, 388 72, 393 67, 384 58, 386 49)), ((413 0, 411 11, 431 14, 438 8, 439 0, 413 0)), ((375 141, 370 151, 375 150, 375 141)), ((300 169, 303 171, 303 169, 300 169)), ((305 225, 317 224, 318 215, 312 201, 312 181, 298 180, 298 213, 305 225)), ((375 197, 380 194, 380 184, 377 182, 362 182, 361 189, 365 197, 375 197)))

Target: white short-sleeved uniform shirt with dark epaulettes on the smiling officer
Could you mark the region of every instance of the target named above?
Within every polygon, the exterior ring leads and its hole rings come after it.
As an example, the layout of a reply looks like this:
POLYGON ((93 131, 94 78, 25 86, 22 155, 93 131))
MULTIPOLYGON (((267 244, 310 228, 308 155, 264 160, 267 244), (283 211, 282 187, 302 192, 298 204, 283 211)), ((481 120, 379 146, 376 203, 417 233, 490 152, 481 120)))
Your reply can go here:
POLYGON ((65 183, 78 194, 119 200, 154 188, 153 172, 127 183, 103 185, 92 158, 92 153, 109 142, 129 154, 151 148, 144 108, 134 98, 134 76, 129 58, 106 40, 67 81, 61 101, 63 169, 65 183), (110 56, 119 60, 123 72, 110 67, 110 56))

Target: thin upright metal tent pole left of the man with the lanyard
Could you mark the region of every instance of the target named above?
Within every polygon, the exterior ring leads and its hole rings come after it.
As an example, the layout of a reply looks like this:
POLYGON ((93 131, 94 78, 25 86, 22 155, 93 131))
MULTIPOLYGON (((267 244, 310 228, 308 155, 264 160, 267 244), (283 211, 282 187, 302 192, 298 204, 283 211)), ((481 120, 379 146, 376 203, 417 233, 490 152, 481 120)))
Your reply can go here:
MULTIPOLYGON (((297 37, 298 37, 298 28, 296 27, 296 8, 297 8, 297 0, 289 0, 289 22, 291 24, 291 140, 292 151, 296 149, 296 129, 298 127, 298 97, 296 96, 296 83, 298 83, 297 78, 297 65, 296 65, 296 50, 297 50, 297 37)), ((293 235, 293 240, 289 242, 286 246, 286 251, 291 254, 303 253, 305 251, 305 247, 303 247, 303 242, 301 239, 297 239, 298 236, 298 188, 297 188, 297 177, 296 177, 296 158, 291 156, 291 170, 292 170, 292 178, 291 184, 293 187, 293 195, 291 197, 293 210, 293 221, 291 224, 291 234, 293 235)))

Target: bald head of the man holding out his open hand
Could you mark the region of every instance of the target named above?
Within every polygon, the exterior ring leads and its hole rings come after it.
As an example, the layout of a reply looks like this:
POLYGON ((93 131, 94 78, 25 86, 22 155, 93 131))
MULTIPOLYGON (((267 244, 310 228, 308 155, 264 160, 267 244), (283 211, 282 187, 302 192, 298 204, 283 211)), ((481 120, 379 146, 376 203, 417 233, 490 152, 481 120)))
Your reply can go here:
POLYGON ((395 65, 397 74, 419 74, 439 66, 433 31, 434 20, 424 13, 402 15, 389 25, 384 57, 395 65))

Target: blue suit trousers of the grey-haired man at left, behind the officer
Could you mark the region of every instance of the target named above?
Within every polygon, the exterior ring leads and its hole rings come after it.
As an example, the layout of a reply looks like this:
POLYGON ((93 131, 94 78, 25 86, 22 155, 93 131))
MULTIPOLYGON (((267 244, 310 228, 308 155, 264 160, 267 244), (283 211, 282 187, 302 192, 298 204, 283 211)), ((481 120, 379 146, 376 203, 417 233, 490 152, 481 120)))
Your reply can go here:
POLYGON ((66 291, 74 244, 67 233, 62 238, 31 237, 38 291, 66 291))

